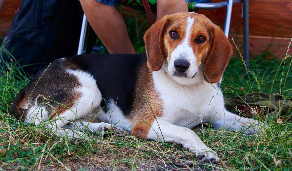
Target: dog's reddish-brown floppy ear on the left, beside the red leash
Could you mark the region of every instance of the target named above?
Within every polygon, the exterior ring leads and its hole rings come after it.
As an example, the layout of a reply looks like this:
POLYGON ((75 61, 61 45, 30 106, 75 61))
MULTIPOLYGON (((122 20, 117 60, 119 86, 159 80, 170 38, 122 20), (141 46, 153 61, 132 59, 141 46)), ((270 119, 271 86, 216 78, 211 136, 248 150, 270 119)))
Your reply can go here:
POLYGON ((147 54, 147 66, 151 71, 158 71, 163 64, 163 36, 170 19, 168 15, 152 25, 144 35, 145 49, 147 54))

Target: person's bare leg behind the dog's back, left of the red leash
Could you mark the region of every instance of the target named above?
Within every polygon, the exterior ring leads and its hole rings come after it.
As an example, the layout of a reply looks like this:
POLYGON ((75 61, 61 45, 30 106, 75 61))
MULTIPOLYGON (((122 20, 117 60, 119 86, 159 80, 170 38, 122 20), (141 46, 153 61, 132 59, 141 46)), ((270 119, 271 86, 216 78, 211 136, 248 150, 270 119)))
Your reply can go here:
POLYGON ((80 0, 80 3, 88 22, 109 53, 135 54, 126 24, 117 8, 96 0, 80 0))

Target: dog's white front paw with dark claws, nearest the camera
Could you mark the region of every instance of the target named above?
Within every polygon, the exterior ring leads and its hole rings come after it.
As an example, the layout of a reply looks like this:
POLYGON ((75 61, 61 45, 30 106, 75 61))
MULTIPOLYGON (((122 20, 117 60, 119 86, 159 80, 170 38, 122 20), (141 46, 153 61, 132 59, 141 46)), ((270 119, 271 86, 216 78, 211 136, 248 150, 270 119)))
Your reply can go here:
POLYGON ((195 156, 199 161, 204 163, 217 164, 219 161, 217 153, 207 146, 200 150, 193 150, 193 153, 195 153, 195 156))

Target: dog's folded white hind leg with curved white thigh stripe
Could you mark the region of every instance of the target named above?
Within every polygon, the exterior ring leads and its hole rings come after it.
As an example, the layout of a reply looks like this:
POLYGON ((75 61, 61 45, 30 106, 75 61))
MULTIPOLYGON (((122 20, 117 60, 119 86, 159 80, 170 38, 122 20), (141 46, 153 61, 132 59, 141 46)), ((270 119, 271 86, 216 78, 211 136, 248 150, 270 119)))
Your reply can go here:
MULTIPOLYGON (((67 100, 62 100, 60 103, 69 104, 64 106, 62 104, 55 105, 44 105, 31 107, 27 110, 27 118, 30 122, 36 125, 46 121, 45 126, 50 132, 56 132, 58 136, 69 137, 72 139, 77 139, 84 137, 86 135, 77 130, 66 129, 68 123, 74 123, 85 116, 88 116, 91 111, 99 108, 100 102, 102 100, 101 93, 96 85, 94 78, 82 71, 72 71, 73 74, 79 78, 81 86, 78 86, 72 92, 70 92, 70 97, 67 100), (54 107, 54 112, 51 114, 46 114, 48 112, 46 107, 54 107), (43 112, 40 112, 41 111, 43 112)), ((52 111, 52 109, 50 109, 52 111)))

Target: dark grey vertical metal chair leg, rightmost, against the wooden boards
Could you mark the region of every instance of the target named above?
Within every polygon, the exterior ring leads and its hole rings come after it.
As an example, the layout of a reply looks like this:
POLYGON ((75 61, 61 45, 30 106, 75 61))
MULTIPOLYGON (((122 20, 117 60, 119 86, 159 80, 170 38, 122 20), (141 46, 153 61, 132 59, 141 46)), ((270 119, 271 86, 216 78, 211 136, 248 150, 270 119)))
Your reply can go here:
POLYGON ((243 1, 243 22, 244 22, 244 61, 246 64, 246 67, 249 66, 249 22, 248 22, 248 0, 243 1))

